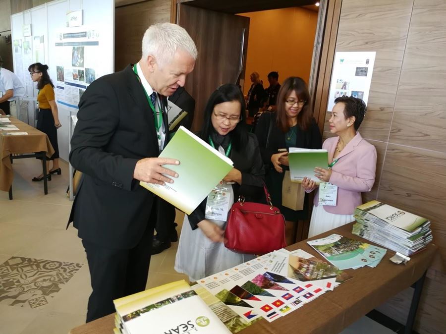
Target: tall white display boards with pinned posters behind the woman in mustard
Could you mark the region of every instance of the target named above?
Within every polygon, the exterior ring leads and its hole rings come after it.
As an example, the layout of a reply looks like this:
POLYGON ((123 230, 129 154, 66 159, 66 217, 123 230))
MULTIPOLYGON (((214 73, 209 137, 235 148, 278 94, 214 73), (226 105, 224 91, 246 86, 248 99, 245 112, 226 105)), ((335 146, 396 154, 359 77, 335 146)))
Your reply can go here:
MULTIPOLYGON (((37 98, 38 91, 28 66, 35 62, 49 66, 62 123, 57 131, 59 154, 68 161, 66 119, 77 113, 79 98, 90 83, 114 71, 114 1, 47 2, 11 15, 11 27, 14 73, 24 83, 29 97, 37 98), (71 18, 70 27, 67 18, 71 18), (73 19, 78 21, 73 23, 73 19), (24 37, 27 25, 31 25, 31 36, 24 37)), ((32 104, 29 114, 34 115, 32 104)), ((30 125, 35 125, 34 117, 30 125)))

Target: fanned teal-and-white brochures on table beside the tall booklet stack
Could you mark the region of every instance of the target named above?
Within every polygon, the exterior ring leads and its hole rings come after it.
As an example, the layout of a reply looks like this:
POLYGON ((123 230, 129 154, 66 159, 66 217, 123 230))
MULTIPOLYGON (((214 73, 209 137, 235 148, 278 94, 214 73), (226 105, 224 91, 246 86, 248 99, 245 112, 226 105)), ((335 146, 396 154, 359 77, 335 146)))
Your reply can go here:
POLYGON ((326 238, 307 241, 322 256, 339 269, 376 267, 387 250, 368 243, 332 234, 326 238))

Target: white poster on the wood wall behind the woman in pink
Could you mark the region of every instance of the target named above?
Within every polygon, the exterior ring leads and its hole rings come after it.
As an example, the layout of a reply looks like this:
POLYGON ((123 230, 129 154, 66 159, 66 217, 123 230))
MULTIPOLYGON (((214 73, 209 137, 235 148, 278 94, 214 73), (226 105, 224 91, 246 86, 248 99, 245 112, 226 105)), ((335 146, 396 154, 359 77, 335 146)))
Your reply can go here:
POLYGON ((353 96, 367 105, 376 52, 336 52, 327 111, 332 111, 335 99, 353 96))

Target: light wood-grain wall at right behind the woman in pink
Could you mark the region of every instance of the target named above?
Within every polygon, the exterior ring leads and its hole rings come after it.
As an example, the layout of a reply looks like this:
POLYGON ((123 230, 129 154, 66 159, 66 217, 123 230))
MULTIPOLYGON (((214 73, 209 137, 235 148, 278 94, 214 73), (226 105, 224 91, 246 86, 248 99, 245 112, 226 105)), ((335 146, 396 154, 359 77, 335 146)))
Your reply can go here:
MULTIPOLYGON (((343 0, 336 41, 336 51, 377 52, 359 129, 378 152, 377 179, 364 200, 376 198, 432 221, 439 252, 416 317, 420 334, 446 333, 445 17, 444 0, 343 0)), ((411 292, 379 310, 404 323, 411 292)))

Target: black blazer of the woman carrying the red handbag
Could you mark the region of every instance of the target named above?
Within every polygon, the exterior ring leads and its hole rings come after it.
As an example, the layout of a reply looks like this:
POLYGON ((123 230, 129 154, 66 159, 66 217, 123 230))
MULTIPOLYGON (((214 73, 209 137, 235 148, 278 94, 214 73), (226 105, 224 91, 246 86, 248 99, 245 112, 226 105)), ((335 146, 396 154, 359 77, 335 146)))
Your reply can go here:
MULTIPOLYGON (((226 149, 225 147, 223 148, 226 149)), ((242 184, 232 184, 234 201, 238 200, 239 195, 243 195, 248 202, 266 202, 263 191, 265 170, 263 168, 262 158, 260 157, 259 143, 257 142, 256 136, 248 133, 248 142, 245 147, 239 151, 232 148, 229 158, 234 163, 234 168, 240 170, 242 173, 242 184)), ((197 224, 205 219, 207 199, 206 197, 188 216, 192 229, 197 228, 197 224)))

